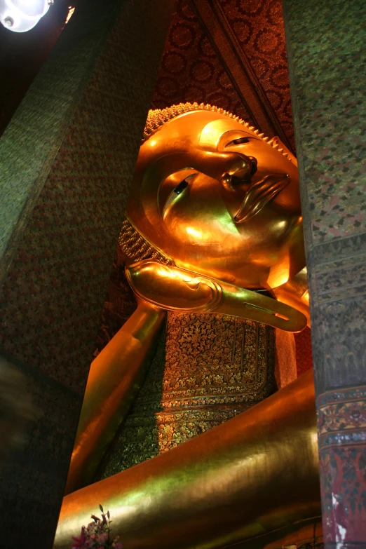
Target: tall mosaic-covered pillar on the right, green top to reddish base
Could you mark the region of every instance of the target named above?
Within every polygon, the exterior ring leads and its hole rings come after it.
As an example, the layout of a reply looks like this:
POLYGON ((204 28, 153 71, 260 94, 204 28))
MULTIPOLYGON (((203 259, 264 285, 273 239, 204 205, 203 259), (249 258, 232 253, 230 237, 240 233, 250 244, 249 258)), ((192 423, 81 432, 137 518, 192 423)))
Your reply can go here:
POLYGON ((284 0, 309 269, 325 548, 366 542, 365 17, 284 0))

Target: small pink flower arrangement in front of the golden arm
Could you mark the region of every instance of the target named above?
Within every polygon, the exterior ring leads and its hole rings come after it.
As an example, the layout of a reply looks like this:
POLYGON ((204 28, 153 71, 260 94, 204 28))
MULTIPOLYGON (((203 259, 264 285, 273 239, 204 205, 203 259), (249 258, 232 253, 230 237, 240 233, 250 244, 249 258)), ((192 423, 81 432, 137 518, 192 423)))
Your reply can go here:
POLYGON ((93 522, 88 526, 81 527, 79 538, 74 538, 72 549, 122 549, 122 543, 118 541, 119 536, 111 540, 111 515, 109 511, 104 513, 102 506, 99 506, 102 518, 91 515, 93 522))

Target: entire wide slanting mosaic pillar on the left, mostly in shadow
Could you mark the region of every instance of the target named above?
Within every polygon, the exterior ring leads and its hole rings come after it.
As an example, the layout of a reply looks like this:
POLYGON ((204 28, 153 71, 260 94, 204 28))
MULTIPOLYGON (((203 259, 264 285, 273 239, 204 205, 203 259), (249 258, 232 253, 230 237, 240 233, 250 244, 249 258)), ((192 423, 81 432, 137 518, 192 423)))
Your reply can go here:
POLYGON ((0 140, 0 374, 38 418, 0 422, 7 549, 53 545, 171 8, 80 1, 0 140))

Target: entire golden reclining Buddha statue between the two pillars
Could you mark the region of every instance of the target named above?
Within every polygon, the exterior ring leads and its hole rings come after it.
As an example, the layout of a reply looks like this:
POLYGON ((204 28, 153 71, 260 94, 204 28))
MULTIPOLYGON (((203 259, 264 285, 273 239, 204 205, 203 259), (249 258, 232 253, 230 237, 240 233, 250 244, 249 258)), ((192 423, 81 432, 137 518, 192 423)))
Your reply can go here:
POLYGON ((296 158, 223 109, 150 111, 119 246, 137 309, 90 367, 54 547, 98 503, 127 549, 264 547, 319 517, 312 374, 273 380, 309 324, 296 158), (167 316, 158 455, 123 464, 167 316))

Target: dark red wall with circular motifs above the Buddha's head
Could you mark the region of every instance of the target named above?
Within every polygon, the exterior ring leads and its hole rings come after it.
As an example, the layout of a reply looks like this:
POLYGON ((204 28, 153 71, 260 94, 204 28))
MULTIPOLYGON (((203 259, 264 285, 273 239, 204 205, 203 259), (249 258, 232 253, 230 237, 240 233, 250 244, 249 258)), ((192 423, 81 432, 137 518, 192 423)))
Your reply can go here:
MULTIPOLYGON (((200 8, 205 2, 196 4, 200 8)), ((281 1, 217 0, 214 5, 219 22, 229 27, 226 38, 240 57, 243 72, 255 80, 257 93, 269 100, 271 116, 276 118, 273 123, 282 126, 294 148, 281 1)), ((195 3, 177 0, 156 83, 154 108, 186 101, 204 102, 255 123, 255 104, 237 85, 224 60, 223 47, 217 36, 210 36, 195 3)))

